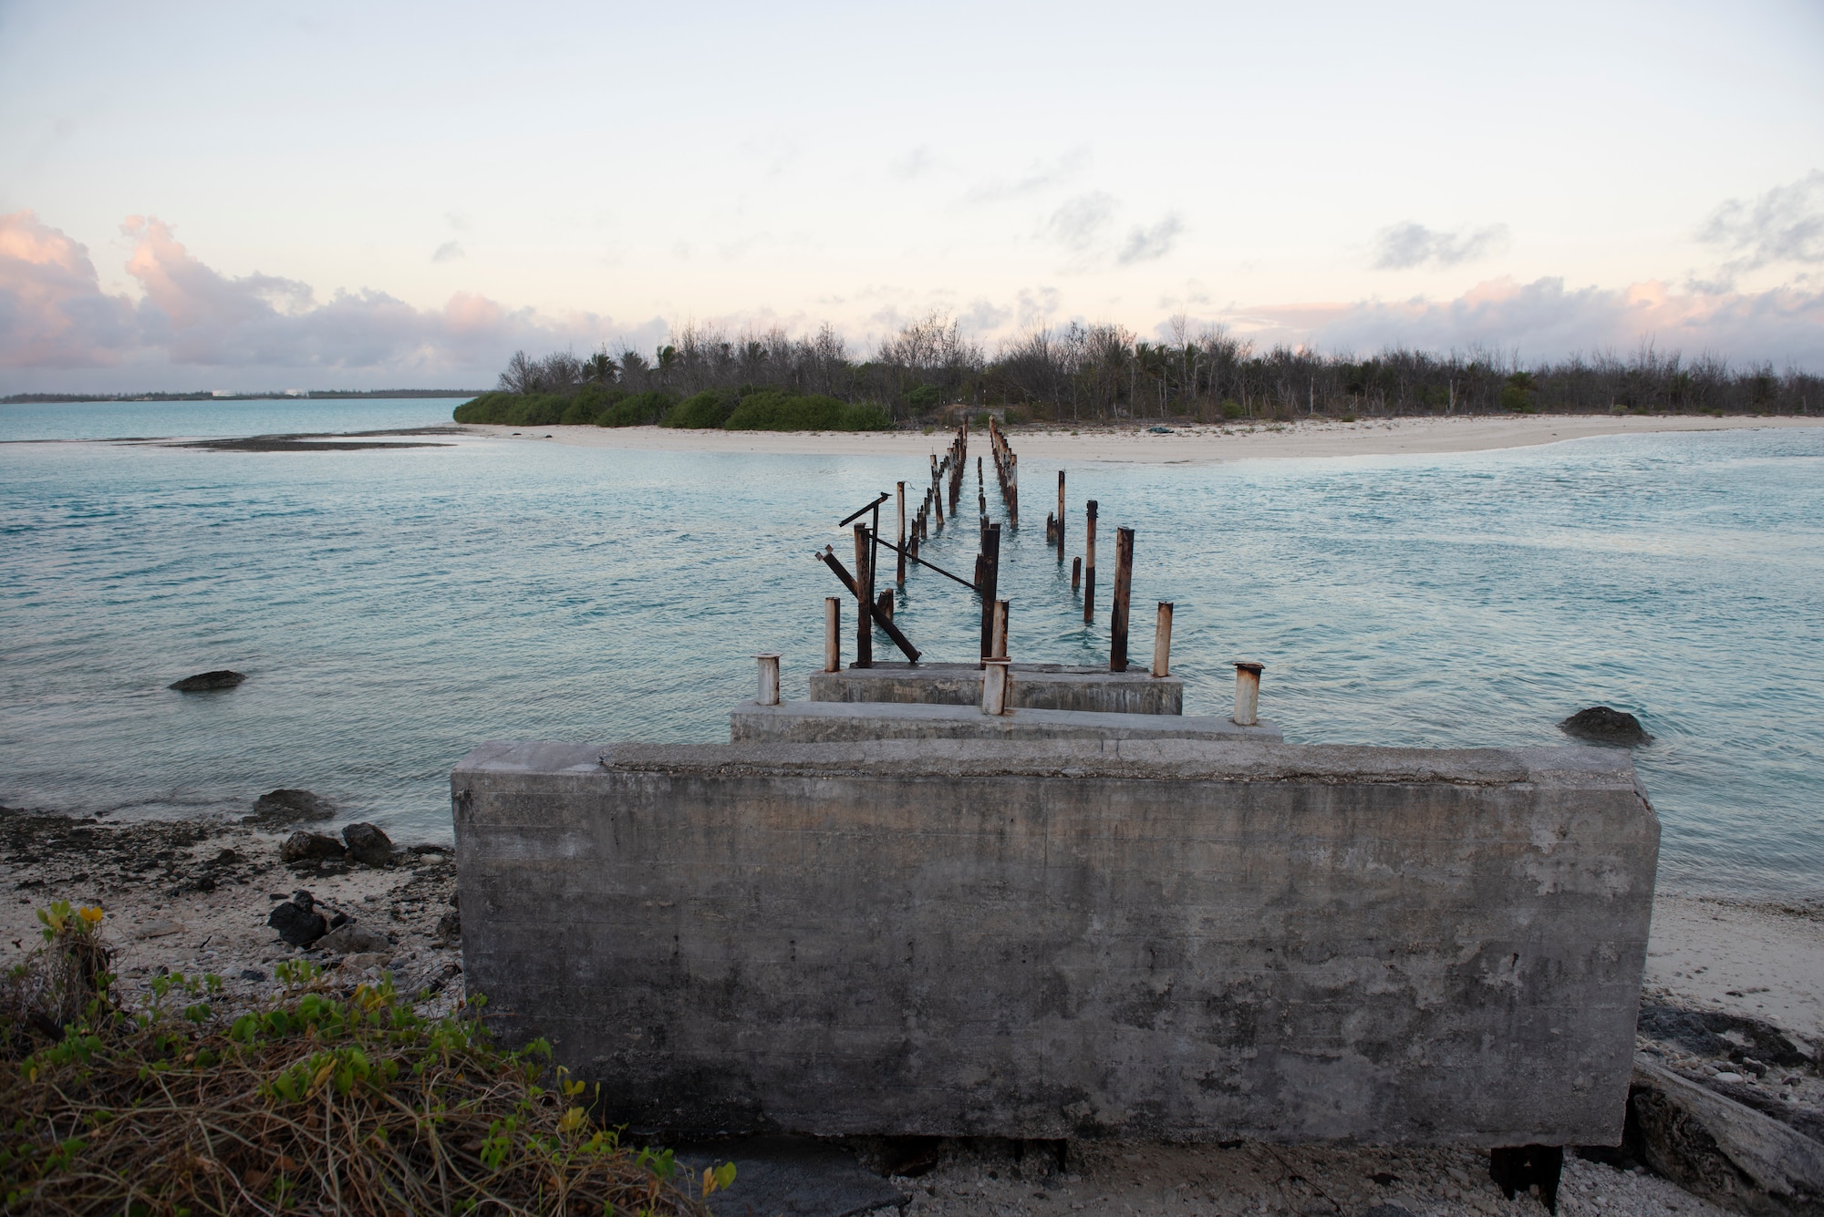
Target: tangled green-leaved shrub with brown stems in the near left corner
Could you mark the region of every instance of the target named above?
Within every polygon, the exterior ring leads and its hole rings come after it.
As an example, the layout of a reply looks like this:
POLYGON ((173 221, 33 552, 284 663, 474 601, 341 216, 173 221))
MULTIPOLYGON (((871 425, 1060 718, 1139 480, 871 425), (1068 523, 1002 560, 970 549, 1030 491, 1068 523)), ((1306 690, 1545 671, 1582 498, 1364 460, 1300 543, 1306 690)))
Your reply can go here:
MULTIPOLYGON (((352 991, 308 962, 235 1007, 219 977, 119 1000, 100 909, 38 913, 0 978, 0 1195, 33 1213, 691 1213, 733 1164, 593 1124, 600 1095, 476 1017, 420 1013, 390 977, 352 991)), ((425 995, 420 995, 420 998, 425 995)))

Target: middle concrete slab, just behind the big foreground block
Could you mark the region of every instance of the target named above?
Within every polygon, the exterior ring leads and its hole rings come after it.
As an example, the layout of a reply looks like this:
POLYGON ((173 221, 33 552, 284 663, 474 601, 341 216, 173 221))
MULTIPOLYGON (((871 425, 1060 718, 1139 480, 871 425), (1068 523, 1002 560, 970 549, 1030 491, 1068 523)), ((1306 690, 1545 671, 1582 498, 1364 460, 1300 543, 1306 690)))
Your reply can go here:
POLYGON ((728 716, 735 743, 852 743, 861 740, 1249 740, 1279 743, 1279 725, 1237 727, 1191 714, 1096 714, 896 701, 742 701, 728 716))

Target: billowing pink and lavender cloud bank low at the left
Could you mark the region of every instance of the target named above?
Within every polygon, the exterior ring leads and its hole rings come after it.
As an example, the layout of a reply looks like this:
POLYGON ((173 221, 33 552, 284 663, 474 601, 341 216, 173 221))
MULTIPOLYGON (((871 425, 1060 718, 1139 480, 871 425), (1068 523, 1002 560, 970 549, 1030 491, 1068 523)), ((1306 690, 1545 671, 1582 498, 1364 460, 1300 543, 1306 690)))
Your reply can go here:
POLYGON ((480 384, 520 346, 593 346, 620 335, 646 344, 664 332, 658 321, 554 319, 461 291, 443 308, 368 290, 319 301, 294 279, 223 275, 155 217, 128 217, 122 231, 133 240, 126 270, 142 288, 139 301, 102 291, 88 250, 31 211, 0 217, 0 366, 29 370, 40 384, 58 370, 119 368, 144 381, 186 364, 254 377, 285 368, 480 384))

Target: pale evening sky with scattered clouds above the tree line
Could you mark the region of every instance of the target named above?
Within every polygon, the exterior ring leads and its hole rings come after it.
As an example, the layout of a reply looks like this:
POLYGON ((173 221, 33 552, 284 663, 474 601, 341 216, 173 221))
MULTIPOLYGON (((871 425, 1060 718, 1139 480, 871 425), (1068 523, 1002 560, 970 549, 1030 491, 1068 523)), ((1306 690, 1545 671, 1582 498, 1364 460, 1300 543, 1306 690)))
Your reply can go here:
POLYGON ((0 394, 943 313, 1824 372, 1824 4, 0 0, 0 394))

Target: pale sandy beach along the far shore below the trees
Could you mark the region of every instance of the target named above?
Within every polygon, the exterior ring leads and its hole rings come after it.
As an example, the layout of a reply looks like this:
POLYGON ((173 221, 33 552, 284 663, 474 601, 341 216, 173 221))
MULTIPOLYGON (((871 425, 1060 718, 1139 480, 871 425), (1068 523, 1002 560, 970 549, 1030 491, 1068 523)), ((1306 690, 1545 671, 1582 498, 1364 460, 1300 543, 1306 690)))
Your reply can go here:
MULTIPOLYGON (((1016 426, 1009 432, 1021 461, 1111 461, 1135 465, 1207 465, 1284 457, 1403 455, 1490 452, 1660 432, 1824 426, 1789 415, 1503 415, 1301 421, 1228 426, 1016 426)), ((753 452, 770 455, 894 455, 919 459, 941 452, 943 432, 720 432, 664 426, 463 426, 472 435, 562 443, 635 452, 753 452)))

